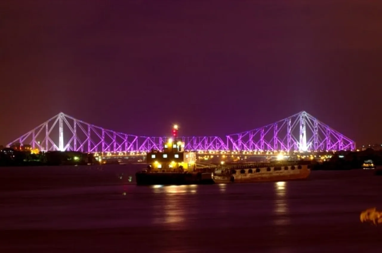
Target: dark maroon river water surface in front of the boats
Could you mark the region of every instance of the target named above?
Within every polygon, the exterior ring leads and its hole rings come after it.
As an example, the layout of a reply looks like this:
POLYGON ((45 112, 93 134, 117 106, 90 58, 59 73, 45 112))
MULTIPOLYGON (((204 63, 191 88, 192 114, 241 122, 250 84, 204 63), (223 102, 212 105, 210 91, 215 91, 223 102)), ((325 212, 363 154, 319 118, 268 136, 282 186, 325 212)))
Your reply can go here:
MULTIPOLYGON (((141 167, 141 166, 139 166, 141 167)), ((0 252, 382 252, 382 177, 137 187, 138 167, 0 168, 0 252)))

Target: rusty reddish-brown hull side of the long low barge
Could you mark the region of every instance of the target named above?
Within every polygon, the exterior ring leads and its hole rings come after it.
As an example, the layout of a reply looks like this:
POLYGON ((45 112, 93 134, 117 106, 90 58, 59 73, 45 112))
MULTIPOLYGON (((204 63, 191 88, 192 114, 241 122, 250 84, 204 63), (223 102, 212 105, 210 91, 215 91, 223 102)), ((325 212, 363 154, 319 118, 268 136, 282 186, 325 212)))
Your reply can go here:
POLYGON ((257 182, 278 182, 290 180, 302 180, 309 177, 311 170, 307 165, 300 165, 300 169, 285 166, 281 170, 275 167, 254 169, 237 169, 230 175, 215 175, 215 183, 257 183, 257 182), (269 171, 270 170, 270 171, 269 171))

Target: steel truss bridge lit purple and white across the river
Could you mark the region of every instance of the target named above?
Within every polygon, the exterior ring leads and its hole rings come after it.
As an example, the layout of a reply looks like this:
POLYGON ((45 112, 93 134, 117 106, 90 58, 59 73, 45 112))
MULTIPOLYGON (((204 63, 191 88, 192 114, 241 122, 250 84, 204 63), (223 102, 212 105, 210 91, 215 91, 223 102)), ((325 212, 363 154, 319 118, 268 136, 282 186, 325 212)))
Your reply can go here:
MULTIPOLYGON (((355 142, 307 112, 242 133, 219 136, 178 137, 185 150, 209 151, 339 151, 354 150, 355 142)), ((15 139, 40 151, 147 152, 162 149, 168 137, 136 136, 108 130, 83 122, 64 113, 50 118, 15 139)))

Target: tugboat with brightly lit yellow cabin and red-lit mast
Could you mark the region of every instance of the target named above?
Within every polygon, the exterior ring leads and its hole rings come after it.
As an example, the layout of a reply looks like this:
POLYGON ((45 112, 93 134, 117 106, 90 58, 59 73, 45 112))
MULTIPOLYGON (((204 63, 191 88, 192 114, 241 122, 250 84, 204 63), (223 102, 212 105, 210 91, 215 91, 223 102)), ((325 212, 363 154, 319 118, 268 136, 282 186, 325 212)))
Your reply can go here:
POLYGON ((178 125, 172 130, 163 150, 147 152, 149 164, 135 174, 137 185, 198 185, 214 184, 213 173, 196 170, 196 153, 185 152, 184 143, 176 140, 178 125))

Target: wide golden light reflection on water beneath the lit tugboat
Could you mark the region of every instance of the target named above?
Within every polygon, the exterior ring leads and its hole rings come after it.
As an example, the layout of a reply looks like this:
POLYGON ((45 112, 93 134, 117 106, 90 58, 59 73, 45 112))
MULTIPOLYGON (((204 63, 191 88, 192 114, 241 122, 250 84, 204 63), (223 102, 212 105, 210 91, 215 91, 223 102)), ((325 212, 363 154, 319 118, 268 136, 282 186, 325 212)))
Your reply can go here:
POLYGON ((159 195, 155 197, 154 223, 185 229, 186 217, 189 215, 187 206, 192 201, 189 195, 197 193, 197 185, 154 185, 152 190, 159 195))

